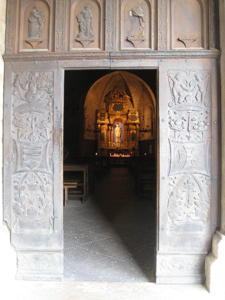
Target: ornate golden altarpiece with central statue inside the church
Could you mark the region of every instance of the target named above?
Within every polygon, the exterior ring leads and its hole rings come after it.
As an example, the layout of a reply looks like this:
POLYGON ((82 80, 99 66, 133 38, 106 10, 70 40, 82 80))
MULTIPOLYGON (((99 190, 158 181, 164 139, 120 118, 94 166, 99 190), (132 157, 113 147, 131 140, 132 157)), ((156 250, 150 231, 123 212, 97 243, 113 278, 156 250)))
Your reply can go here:
POLYGON ((138 155, 139 119, 136 108, 127 109, 130 99, 115 86, 105 97, 105 107, 97 113, 97 155, 138 155))

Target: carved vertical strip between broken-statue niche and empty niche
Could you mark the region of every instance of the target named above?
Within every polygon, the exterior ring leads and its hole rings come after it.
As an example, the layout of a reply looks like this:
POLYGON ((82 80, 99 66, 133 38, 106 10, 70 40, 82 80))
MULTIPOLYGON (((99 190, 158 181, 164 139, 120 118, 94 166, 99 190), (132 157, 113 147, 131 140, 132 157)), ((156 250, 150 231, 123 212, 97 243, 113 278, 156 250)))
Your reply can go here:
POLYGON ((166 0, 158 0, 158 49, 166 49, 166 0))

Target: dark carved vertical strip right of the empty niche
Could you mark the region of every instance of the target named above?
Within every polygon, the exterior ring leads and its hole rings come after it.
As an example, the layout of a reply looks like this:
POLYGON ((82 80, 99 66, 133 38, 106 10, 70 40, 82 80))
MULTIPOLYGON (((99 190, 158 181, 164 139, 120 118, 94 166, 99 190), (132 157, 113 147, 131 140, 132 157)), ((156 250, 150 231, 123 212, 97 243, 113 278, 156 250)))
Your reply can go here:
POLYGON ((209 49, 218 48, 218 3, 209 1, 209 49))

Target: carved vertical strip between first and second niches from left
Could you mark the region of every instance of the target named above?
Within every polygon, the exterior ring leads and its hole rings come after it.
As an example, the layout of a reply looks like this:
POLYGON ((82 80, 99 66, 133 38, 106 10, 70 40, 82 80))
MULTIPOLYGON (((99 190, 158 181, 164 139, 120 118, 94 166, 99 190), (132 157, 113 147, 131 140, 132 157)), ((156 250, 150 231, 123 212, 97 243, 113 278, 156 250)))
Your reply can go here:
POLYGON ((63 49, 63 0, 55 2, 55 52, 63 49))

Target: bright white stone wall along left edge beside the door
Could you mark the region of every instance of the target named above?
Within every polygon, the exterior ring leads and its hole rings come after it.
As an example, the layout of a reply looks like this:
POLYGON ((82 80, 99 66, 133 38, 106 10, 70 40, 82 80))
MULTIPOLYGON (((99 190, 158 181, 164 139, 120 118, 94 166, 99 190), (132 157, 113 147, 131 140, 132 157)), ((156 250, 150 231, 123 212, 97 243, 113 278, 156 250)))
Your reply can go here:
MULTIPOLYGON (((4 62, 2 54, 4 53, 5 38, 5 12, 6 0, 0 0, 0 140, 2 142, 2 112, 3 112, 3 77, 4 62)), ((2 182, 2 147, 0 147, 0 182, 2 182)), ((2 184, 0 184, 0 202, 2 203, 2 184)), ((1 204, 2 207, 2 204, 1 204)), ((0 282, 1 286, 8 286, 15 278, 16 272, 16 252, 10 245, 10 233, 6 224, 3 224, 3 210, 0 209, 0 282)))

